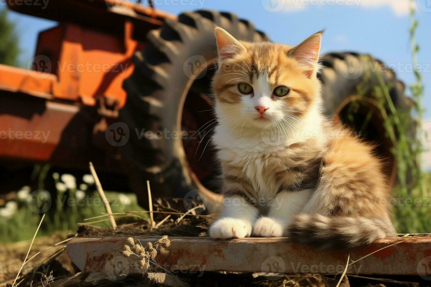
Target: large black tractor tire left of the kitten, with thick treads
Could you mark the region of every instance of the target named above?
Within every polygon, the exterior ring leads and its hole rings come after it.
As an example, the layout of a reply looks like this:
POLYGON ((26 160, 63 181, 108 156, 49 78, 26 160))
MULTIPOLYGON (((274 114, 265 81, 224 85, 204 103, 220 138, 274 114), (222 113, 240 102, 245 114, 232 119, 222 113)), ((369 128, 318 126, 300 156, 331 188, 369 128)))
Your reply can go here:
POLYGON ((125 80, 128 96, 120 111, 120 120, 130 130, 122 151, 131 188, 144 207, 148 204, 145 181, 150 180, 153 196, 203 198, 208 200, 209 212, 217 211, 212 203, 219 197, 202 185, 214 183, 214 153, 209 146, 203 153, 207 142, 199 145, 199 139, 205 134, 194 132, 213 119, 208 95, 216 59, 214 24, 240 40, 268 40, 235 14, 185 12, 150 31, 147 46, 134 56, 136 67, 125 80), (181 131, 186 133, 178 136, 181 131))

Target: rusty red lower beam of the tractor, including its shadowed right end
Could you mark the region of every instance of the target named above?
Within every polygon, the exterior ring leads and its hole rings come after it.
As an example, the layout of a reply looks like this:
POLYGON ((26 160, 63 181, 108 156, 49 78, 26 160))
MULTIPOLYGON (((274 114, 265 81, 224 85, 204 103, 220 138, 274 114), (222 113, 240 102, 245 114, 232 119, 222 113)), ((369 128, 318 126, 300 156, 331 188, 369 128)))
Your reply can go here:
POLYGON ((105 138, 109 122, 98 123, 95 108, 20 93, 0 93, 0 160, 50 162, 123 173, 119 149, 105 138), (96 127, 100 127, 97 129, 96 127))

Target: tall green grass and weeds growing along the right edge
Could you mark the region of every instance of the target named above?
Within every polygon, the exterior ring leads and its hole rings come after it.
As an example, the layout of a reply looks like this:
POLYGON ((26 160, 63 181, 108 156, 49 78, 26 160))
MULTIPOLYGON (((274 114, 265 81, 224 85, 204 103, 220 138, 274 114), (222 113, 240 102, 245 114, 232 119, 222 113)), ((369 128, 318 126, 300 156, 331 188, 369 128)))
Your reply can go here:
MULTIPOLYGON (((414 0, 410 2, 410 44, 412 52, 412 64, 414 67, 415 82, 410 85, 410 96, 413 101, 413 114, 415 116, 415 128, 421 126, 423 120, 424 108, 422 105, 422 98, 424 96, 422 75, 417 70, 418 67, 418 51, 419 45, 416 42, 416 29, 419 22, 415 19, 416 3, 414 0)), ((382 85, 381 89, 384 89, 382 85)), ((378 90, 378 88, 377 88, 378 90)), ((393 105, 390 99, 387 100, 387 105, 393 105)), ((412 128, 410 118, 404 114, 391 110, 390 117, 387 121, 387 127, 392 126, 399 135, 399 140, 394 145, 393 154, 397 159, 398 168, 398 182, 395 191, 400 198, 407 200, 411 198, 417 204, 404 204, 397 205, 394 210, 395 223, 398 230, 408 233, 422 233, 431 232, 431 176, 429 173, 424 173, 421 170, 422 153, 424 146, 421 145, 417 139, 416 133, 408 133, 412 128), (412 181, 409 182, 407 174, 410 173, 412 181), (421 204, 421 205, 419 205, 421 204)), ((388 129, 387 129, 388 130, 388 129)), ((421 135, 418 134, 420 137, 421 135)))

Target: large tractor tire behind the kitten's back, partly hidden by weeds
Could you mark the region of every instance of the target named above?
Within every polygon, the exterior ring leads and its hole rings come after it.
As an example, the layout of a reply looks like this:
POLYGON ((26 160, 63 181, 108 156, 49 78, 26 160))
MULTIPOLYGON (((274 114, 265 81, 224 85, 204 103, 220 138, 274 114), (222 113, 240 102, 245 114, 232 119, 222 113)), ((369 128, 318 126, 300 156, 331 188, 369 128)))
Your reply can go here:
MULTIPOLYGON (((394 185, 397 177, 396 160, 391 152, 394 145, 384 130, 375 87, 387 87, 397 111, 409 116, 412 101, 405 96, 404 83, 387 65, 370 55, 337 52, 322 56, 321 61, 324 68, 319 77, 327 115, 352 127, 362 139, 376 144, 376 153, 386 163, 388 184, 394 185)), ((414 127, 408 132, 415 136, 414 127)))

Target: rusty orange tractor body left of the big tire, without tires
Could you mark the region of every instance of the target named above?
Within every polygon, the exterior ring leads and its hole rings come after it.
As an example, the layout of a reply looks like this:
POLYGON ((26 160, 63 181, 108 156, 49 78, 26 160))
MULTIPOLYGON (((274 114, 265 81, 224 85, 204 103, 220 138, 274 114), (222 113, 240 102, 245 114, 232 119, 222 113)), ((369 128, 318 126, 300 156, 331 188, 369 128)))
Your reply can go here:
POLYGON ((60 24, 39 34, 28 69, 0 65, 0 159, 81 168, 91 158, 121 171, 104 132, 125 104, 123 81, 145 34, 176 17, 119 0, 62 0, 46 9, 8 4, 60 24))

